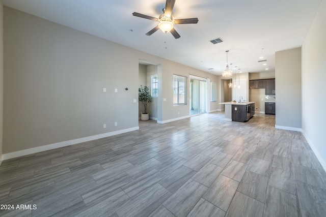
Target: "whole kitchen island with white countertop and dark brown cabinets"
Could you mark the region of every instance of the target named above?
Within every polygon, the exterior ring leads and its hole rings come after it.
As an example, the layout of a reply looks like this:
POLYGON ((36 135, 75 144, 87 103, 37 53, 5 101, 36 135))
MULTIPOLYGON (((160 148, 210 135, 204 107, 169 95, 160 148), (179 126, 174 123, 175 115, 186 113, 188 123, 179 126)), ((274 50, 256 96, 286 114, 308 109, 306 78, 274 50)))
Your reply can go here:
POLYGON ((255 102, 224 102, 225 120, 244 122, 255 114, 255 102))

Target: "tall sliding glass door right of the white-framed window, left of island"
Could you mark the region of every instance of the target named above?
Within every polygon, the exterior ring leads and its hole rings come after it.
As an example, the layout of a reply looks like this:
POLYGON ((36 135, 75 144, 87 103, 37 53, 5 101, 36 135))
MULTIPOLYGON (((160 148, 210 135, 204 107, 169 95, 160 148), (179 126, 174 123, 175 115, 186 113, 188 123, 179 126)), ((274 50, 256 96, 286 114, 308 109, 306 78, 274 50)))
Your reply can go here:
POLYGON ((190 75, 190 115, 207 112, 207 79, 190 75))

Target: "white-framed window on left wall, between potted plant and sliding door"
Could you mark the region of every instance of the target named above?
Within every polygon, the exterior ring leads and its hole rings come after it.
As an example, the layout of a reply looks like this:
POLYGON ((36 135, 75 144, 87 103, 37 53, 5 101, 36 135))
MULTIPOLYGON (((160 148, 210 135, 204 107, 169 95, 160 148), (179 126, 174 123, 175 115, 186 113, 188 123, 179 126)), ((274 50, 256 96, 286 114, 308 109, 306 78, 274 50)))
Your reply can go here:
POLYGON ((186 81, 186 77, 173 75, 173 105, 187 103, 186 81))

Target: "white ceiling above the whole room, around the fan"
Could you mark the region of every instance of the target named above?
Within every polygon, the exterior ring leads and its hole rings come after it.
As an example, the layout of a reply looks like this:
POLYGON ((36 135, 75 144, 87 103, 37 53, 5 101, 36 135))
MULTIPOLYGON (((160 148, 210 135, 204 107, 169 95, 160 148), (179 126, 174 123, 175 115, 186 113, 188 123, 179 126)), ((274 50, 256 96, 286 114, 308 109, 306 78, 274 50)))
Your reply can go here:
POLYGON ((242 72, 264 72, 265 68, 274 71, 275 52, 302 45, 321 0, 176 0, 174 19, 199 19, 197 24, 175 25, 179 39, 160 30, 146 36, 157 23, 132 16, 138 12, 158 17, 165 0, 2 2, 82 32, 220 75, 225 69, 226 50, 230 50, 229 64, 242 72), (210 43, 219 37, 223 43, 210 43), (260 56, 267 59, 266 66, 257 62, 260 56))

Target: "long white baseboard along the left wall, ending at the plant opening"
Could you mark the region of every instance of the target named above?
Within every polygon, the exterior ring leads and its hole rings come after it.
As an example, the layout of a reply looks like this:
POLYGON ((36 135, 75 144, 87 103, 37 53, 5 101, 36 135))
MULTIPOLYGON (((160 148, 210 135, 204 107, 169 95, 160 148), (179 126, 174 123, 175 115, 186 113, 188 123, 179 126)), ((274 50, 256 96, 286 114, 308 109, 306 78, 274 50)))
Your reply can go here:
POLYGON ((18 158, 18 157, 25 156, 28 154, 33 154, 33 153, 37 153, 37 152, 41 152, 41 151, 47 151, 47 150, 51 150, 51 149, 55 149, 55 148, 61 148, 64 146, 74 145, 74 144, 78 144, 81 142, 88 142, 88 141, 101 139, 101 138, 105 138, 105 137, 109 137, 109 136, 115 136, 118 134, 128 133, 128 132, 135 131, 135 130, 139 130, 139 127, 128 128, 128 129, 124 129, 124 130, 113 131, 113 132, 98 134, 98 135, 94 135, 94 136, 88 136, 88 137, 79 138, 79 139, 72 139, 72 140, 53 143, 53 144, 49 144, 49 145, 42 145, 39 147, 24 149, 24 150, 20 150, 20 151, 14 151, 14 152, 10 152, 10 153, 4 153, 2 158, 3 158, 3 160, 18 158))

